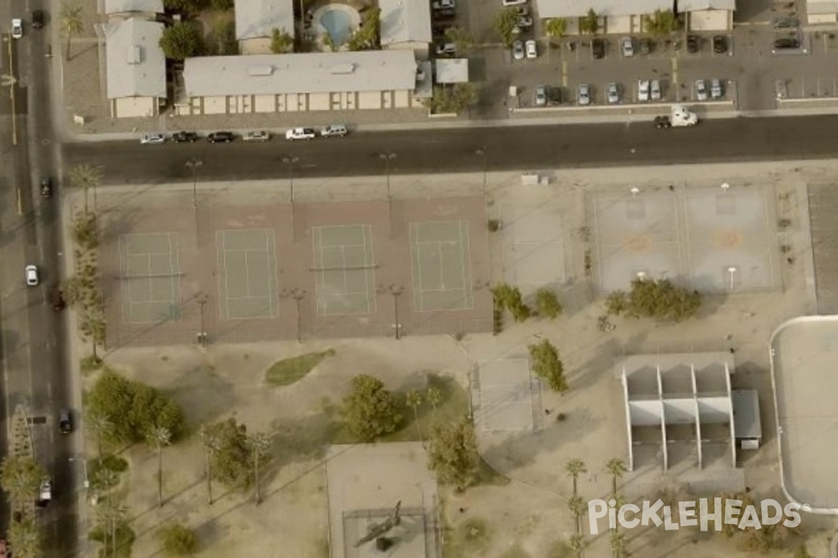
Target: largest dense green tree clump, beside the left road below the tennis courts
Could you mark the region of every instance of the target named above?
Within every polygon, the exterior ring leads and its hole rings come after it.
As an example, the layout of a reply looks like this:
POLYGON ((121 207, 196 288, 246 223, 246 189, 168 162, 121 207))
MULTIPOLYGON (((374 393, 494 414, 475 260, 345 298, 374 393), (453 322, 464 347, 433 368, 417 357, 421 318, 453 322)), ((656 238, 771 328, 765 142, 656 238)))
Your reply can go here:
POLYGON ((174 439, 184 424, 184 412, 177 402, 153 387, 109 370, 96 380, 88 411, 106 420, 104 434, 116 443, 142 442, 154 427, 167 428, 174 439))

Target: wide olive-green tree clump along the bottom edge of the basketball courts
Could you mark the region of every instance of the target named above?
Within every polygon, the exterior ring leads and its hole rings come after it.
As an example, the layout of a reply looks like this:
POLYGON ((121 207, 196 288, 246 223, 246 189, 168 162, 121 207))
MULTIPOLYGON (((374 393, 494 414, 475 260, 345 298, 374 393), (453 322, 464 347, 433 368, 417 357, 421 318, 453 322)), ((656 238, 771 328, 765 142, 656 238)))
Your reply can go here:
POLYGON ((688 320, 701 308, 701 294, 675 286, 669 279, 641 279, 631 282, 629 293, 615 291, 605 299, 610 315, 653 318, 660 321, 688 320))

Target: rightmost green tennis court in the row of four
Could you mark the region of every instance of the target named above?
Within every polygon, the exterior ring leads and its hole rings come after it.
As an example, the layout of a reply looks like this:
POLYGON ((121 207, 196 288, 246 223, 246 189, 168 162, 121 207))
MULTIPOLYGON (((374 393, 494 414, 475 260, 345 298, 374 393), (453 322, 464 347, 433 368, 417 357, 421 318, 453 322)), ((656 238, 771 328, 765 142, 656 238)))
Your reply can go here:
POLYGON ((467 221, 411 223, 411 255, 416 311, 473 307, 467 221))

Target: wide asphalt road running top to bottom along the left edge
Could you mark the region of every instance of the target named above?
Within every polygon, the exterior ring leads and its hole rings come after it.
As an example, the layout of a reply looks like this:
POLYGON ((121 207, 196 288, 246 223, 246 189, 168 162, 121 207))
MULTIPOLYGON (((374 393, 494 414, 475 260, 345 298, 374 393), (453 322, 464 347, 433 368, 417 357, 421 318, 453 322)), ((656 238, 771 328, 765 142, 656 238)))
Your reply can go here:
MULTIPOLYGON (((47 0, 13 0, 0 6, 0 21, 23 18, 24 36, 13 40, 3 33, 0 74, 17 79, 12 91, 0 93, 0 324, 3 355, 3 420, 9 421, 18 404, 33 419, 34 457, 54 481, 54 501, 38 510, 46 555, 75 555, 76 471, 68 459, 74 455, 75 435, 61 436, 57 413, 70 407, 72 390, 64 352, 63 313, 49 305, 49 289, 59 282, 58 197, 39 195, 42 177, 57 177, 59 150, 51 124, 49 64, 45 57, 51 29, 29 26, 30 11, 48 8, 47 0), (16 115, 13 118, 13 114, 16 115), (23 268, 39 267, 41 284, 27 288, 23 268)), ((6 28, 4 25, 3 28, 6 28)), ((4 440, 3 456, 8 454, 4 440)), ((3 500, 5 503, 5 499, 3 500)), ((5 505, 5 504, 4 504, 5 505)), ((8 528, 8 507, 2 509, 0 536, 8 528)))

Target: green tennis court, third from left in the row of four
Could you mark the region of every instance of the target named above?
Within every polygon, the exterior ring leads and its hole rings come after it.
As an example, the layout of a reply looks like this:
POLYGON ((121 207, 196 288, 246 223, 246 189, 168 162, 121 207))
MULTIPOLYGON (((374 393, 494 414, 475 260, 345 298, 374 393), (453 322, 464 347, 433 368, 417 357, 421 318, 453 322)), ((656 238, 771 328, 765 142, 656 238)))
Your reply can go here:
POLYGON ((314 227, 319 315, 375 312, 375 255, 370 225, 314 227))

